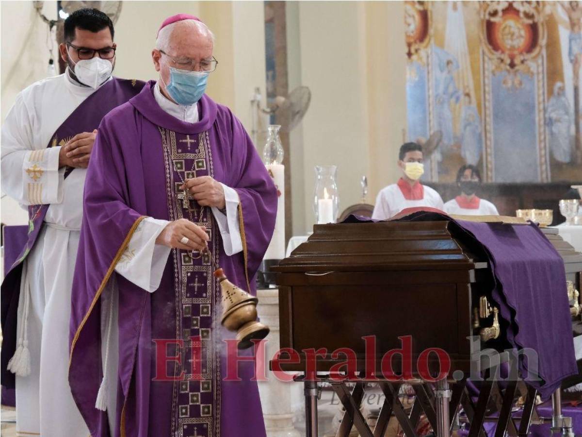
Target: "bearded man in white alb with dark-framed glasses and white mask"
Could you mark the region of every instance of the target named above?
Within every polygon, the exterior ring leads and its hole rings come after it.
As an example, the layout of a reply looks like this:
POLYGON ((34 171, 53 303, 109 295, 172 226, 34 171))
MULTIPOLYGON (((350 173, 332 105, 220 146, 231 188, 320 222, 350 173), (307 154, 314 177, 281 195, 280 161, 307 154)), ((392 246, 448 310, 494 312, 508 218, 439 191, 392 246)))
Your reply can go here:
POLYGON ((111 75, 104 13, 73 12, 64 35, 66 72, 19 93, 2 126, 2 188, 29 210, 26 247, 2 283, 2 385, 16 385, 18 435, 89 434, 68 380, 83 185, 101 118, 143 87, 111 75))

